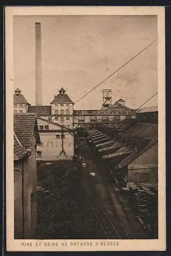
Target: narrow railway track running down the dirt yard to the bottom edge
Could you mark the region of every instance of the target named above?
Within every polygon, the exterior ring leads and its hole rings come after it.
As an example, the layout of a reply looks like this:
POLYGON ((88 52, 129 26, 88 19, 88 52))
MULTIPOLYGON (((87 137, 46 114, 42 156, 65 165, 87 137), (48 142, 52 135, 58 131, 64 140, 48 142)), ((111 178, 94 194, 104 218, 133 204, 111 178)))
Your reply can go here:
POLYGON ((91 183, 86 176, 82 179, 82 187, 89 201, 93 214, 102 230, 105 239, 121 239, 113 222, 110 220, 99 200, 97 199, 91 183))

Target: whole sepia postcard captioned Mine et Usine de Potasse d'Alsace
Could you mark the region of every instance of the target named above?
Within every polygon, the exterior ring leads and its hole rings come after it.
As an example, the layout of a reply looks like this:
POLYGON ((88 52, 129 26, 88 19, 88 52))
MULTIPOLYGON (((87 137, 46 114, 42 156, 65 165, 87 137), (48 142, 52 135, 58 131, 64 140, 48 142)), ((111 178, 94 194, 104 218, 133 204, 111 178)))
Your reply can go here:
POLYGON ((164 7, 5 7, 8 251, 164 251, 164 7))

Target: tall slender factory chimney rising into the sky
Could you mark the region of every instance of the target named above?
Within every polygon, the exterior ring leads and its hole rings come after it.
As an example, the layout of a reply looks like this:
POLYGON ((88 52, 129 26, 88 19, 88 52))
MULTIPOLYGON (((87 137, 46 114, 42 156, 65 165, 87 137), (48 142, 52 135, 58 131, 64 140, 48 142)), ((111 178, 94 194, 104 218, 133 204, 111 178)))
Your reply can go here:
POLYGON ((41 26, 35 23, 35 45, 36 45, 36 105, 42 105, 42 82, 41 82, 41 26))

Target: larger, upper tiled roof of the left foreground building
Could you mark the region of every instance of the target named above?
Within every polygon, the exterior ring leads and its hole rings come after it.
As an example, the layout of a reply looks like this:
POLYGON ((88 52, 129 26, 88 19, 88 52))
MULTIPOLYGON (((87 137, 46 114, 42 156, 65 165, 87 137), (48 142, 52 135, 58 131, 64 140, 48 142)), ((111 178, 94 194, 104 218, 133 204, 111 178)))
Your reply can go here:
POLYGON ((20 143, 30 149, 35 129, 35 114, 14 114, 14 132, 20 143))

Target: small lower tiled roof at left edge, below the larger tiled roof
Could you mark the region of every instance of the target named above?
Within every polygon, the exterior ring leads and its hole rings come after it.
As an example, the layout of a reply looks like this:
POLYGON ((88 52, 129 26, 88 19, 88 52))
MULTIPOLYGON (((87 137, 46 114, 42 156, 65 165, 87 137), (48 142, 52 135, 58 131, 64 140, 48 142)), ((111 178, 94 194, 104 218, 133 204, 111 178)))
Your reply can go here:
POLYGON ((19 142, 16 134, 14 133, 14 160, 19 160, 29 154, 22 144, 19 142))

